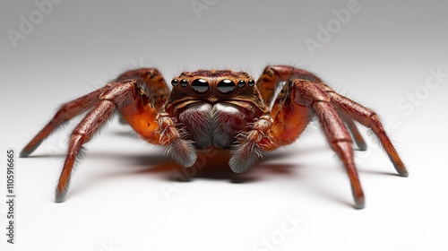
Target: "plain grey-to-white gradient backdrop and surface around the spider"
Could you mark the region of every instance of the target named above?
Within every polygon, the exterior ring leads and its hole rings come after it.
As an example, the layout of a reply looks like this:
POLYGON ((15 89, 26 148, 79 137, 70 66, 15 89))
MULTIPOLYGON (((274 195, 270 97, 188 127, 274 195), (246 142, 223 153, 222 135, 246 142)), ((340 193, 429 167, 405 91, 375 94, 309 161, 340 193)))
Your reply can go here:
MULTIPOLYGON (((20 151, 59 104, 138 65, 157 66, 169 79, 198 67, 258 76, 265 65, 293 64, 320 74, 384 121, 396 117, 390 134, 410 176, 393 175, 387 157, 369 142, 369 151, 357 152, 366 209, 354 210, 349 180, 314 125, 293 147, 268 154, 241 175, 250 182, 234 184, 229 172, 209 170, 175 184, 182 187, 167 200, 160 186, 173 186, 173 164, 113 120, 88 144, 66 202, 53 203, 73 122, 34 158, 16 160, 17 244, 6 244, 2 234, 1 249, 254 250, 278 233, 284 213, 295 212, 305 221, 278 250, 445 250, 448 78, 412 112, 397 103, 422 90, 430 69, 448 73, 448 4, 360 0, 361 10, 311 56, 304 39, 316 39, 317 25, 347 3, 219 0, 198 18, 190 0, 67 0, 13 48, 6 30, 19 30, 20 16, 37 7, 3 1, 2 151, 20 151)), ((1 229, 5 212, 0 203, 1 229)))

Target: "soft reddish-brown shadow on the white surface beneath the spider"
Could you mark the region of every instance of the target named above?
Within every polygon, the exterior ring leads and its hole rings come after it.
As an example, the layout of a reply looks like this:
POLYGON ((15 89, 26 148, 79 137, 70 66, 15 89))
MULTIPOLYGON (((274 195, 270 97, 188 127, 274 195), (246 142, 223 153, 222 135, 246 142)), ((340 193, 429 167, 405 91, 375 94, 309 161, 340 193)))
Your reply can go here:
MULTIPOLYGON (((201 152, 198 153, 198 160, 194 166, 184 168, 171 160, 168 156, 160 154, 129 154, 129 153, 108 153, 108 152, 90 152, 86 156, 88 159, 106 159, 119 160, 125 163, 123 171, 109 172, 100 176, 89 177, 84 180, 77 180, 75 186, 70 187, 67 196, 73 196, 88 190, 90 186, 95 186, 101 180, 112 177, 123 176, 148 176, 151 178, 160 178, 173 182, 191 182, 196 179, 223 180, 233 184, 245 184, 260 179, 268 178, 271 175, 289 175, 292 168, 298 165, 288 164, 270 164, 270 160, 279 160, 289 156, 289 153, 276 151, 263 155, 263 159, 254 164, 254 168, 245 173, 235 173, 228 167, 229 151, 213 151, 205 157, 201 152), (143 168, 142 168, 143 167, 143 168)), ((31 155, 28 158, 57 158, 64 160, 65 154, 40 154, 31 155)))

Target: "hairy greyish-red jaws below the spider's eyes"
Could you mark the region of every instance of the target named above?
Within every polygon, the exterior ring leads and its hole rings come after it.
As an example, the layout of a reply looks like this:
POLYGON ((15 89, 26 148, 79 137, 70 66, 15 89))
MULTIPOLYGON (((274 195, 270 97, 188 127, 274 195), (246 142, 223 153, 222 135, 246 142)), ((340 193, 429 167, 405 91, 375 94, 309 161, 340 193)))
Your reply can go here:
POLYGON ((183 110, 178 119, 185 126, 188 139, 197 148, 230 148, 246 123, 252 122, 242 108, 228 103, 195 103, 183 110))

